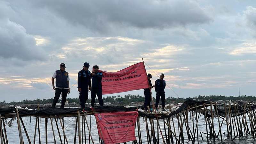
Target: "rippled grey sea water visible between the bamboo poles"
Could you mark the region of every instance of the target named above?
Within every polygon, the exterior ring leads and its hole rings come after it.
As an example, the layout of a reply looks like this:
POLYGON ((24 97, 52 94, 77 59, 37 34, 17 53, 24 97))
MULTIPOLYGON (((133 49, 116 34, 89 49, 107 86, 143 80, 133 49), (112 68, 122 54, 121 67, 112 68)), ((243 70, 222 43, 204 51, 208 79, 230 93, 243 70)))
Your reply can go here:
MULTIPOLYGON (((90 116, 86 116, 86 118, 87 118, 88 124, 90 124, 90 116)), ((35 133, 35 124, 36 124, 35 117, 31 117, 31 123, 30 123, 30 117, 24 117, 22 119, 23 119, 25 127, 28 131, 29 138, 30 138, 31 142, 33 143, 34 133, 35 133)), ((175 131, 176 131, 176 134, 177 134, 178 133, 178 122, 177 122, 176 117, 174 117, 173 119, 174 119, 175 131)), ((9 120, 11 120, 11 119, 9 118, 7 120, 7 122, 9 122, 9 120)), ((193 130, 192 120, 190 118, 189 118, 189 120, 190 120, 189 121, 189 127, 192 131, 193 130)), ((81 122, 81 120, 80 120, 80 122, 81 122)), ((249 121, 247 121, 247 122, 248 122, 248 125, 249 125, 249 121)), ((41 118, 41 119, 39 118, 39 124, 40 124, 41 143, 44 144, 45 143, 45 119, 44 118, 41 118)), ((60 125, 59 120, 58 120, 58 125, 59 125, 59 129, 60 129, 61 139, 62 139, 62 142, 64 143, 63 131, 61 129, 61 125, 60 125)), ((161 125, 161 129, 162 129, 163 134, 165 134, 164 133, 164 123, 163 123, 162 120, 160 120, 160 125, 161 125)), ((194 119, 194 125, 196 125, 196 119, 194 119)), ((65 133, 66 133, 66 136, 68 138, 68 143, 70 143, 70 144, 74 143, 75 126, 76 126, 75 117, 65 117, 64 118, 65 133)), ((149 121, 148 121, 148 126, 149 126, 149 129, 150 129, 149 121)), ((59 137, 57 127, 56 127, 56 123, 55 123, 54 119, 53 119, 53 127, 54 127, 56 142, 60 143, 60 137, 59 137)), ((154 121, 154 127, 155 127, 155 129, 157 128, 156 120, 154 121)), ((173 131, 173 125, 172 124, 171 124, 171 128, 172 128, 172 131, 173 131)), ((226 126, 226 123, 224 122, 223 125, 222 125, 222 128, 221 128, 223 139, 225 139, 223 131, 225 131, 225 133, 226 133, 225 136, 227 136, 226 128, 227 128, 227 126, 226 126)), ((86 134, 85 134, 86 135, 86 143, 88 144, 89 132, 88 132, 88 129, 87 129, 86 125, 85 125, 85 129, 86 129, 86 134)), ((166 129, 167 129, 167 132, 168 132, 168 127, 167 126, 166 126, 166 129)), ((218 130, 219 130, 218 118, 214 118, 214 129, 215 129, 216 134, 218 134, 218 130)), ((249 127, 249 129, 250 129, 250 127, 249 127)), ((7 131, 7 138, 8 138, 9 144, 15 144, 15 143, 20 142, 17 120, 15 120, 12 123, 12 127, 8 127, 6 125, 6 131, 7 131)), ((91 131, 92 131, 92 137, 93 137, 94 143, 99 144, 98 130, 97 130, 97 127, 96 127, 96 121, 95 121, 94 116, 92 116, 91 131)), ((141 131, 141 135, 142 135, 142 142, 147 144, 148 142, 147 142, 147 136, 146 136, 146 123, 145 123, 143 117, 140 117, 140 131, 141 131)), ((199 143, 204 143, 205 144, 205 143, 207 143, 206 134, 203 134, 203 140, 202 140, 201 135, 200 135, 200 131, 201 132, 206 132, 205 119, 204 119, 203 115, 200 116, 199 121, 198 121, 198 134, 199 134, 198 137, 199 137, 199 143)), ((209 127, 208 127, 208 131, 209 131, 209 127)), ((191 141, 190 142, 188 141, 185 125, 183 127, 183 133, 184 133, 185 143, 192 144, 191 141)), ((47 134, 48 134, 47 135, 48 136, 48 143, 49 144, 54 144, 52 126, 51 126, 50 119, 48 119, 48 121, 47 121, 47 134)), ((26 134, 23 130, 23 127, 22 127, 22 135, 23 135, 24 143, 28 144, 28 140, 27 140, 26 134)), ((137 137, 137 140, 139 140, 138 139, 137 125, 136 125, 135 135, 137 137)), ((76 137, 77 137, 76 138, 76 143, 78 143, 78 130, 77 130, 76 137)), ((157 138, 157 132, 156 132, 156 138, 157 138)), ((84 139, 84 136, 83 136, 83 139, 84 139)), ((165 135, 164 135, 164 139, 165 139, 165 135)), ((39 143, 38 130, 36 131, 36 142, 35 143, 39 143)), ((84 140, 83 140, 83 143, 84 143, 84 140)), ((92 144, 92 142, 90 142, 90 143, 92 144)), ((127 142, 127 143, 132 144, 132 142, 127 142)), ((163 143, 162 136, 161 136, 160 132, 159 132, 159 143, 160 144, 163 143)), ((175 140, 174 140, 174 143, 175 143, 175 140)), ((196 143, 197 143, 197 139, 196 139, 196 143)), ((213 139, 210 140, 210 143, 214 143, 213 139)), ((246 144, 250 144, 250 143, 256 143, 256 137, 252 136, 252 135, 248 135, 247 137, 244 136, 243 138, 236 138, 234 141, 225 140, 225 141, 221 142, 220 141, 220 136, 219 136, 219 140, 216 140, 215 143, 216 144, 223 144, 223 143, 234 143, 234 144, 235 143, 236 144, 246 143, 246 144)))

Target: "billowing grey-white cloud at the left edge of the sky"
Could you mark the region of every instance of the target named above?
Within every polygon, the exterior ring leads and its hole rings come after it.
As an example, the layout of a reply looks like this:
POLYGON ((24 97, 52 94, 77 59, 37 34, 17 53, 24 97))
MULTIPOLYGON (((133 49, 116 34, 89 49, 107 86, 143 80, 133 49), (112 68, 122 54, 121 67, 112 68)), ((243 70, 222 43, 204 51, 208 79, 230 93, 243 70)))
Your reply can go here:
POLYGON ((1 2, 0 7, 0 58, 22 61, 44 60, 44 50, 36 45, 33 36, 27 34, 21 25, 10 21, 8 13, 13 12, 8 3, 1 2), (2 4, 2 5, 1 5, 2 4), (7 12, 4 12, 7 10, 7 12))

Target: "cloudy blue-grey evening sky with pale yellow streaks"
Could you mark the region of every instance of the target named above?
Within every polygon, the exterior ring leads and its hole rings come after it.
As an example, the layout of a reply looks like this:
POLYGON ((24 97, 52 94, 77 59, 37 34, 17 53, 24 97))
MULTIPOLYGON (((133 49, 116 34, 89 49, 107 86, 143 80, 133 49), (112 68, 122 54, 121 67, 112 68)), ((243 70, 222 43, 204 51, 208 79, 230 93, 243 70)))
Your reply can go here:
MULTIPOLYGON (((165 97, 255 96, 255 38, 254 0, 0 0, 0 101, 53 98, 60 63, 79 98, 84 62, 115 72, 142 58, 165 97)), ((127 94, 144 90, 103 96, 127 94)))

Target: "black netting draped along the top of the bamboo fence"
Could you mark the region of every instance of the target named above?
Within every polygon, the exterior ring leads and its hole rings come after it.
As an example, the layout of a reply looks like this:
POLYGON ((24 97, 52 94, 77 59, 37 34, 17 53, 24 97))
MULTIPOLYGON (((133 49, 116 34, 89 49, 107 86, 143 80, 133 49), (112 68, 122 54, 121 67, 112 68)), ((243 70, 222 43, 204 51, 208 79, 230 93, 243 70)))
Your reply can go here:
MULTIPOLYGON (((180 112, 186 110, 187 108, 192 108, 195 107, 195 105, 199 106, 197 109, 201 108, 201 113, 203 115, 205 115, 204 112, 204 106, 203 104, 206 104, 206 116, 207 117, 212 117, 211 115, 211 108, 209 108, 209 101, 195 101, 195 100, 186 100, 179 109, 177 109, 176 111, 171 112, 171 114, 169 115, 161 115, 161 114, 157 114, 157 117, 159 119, 164 119, 170 116, 175 116, 176 114, 179 114, 180 112)), ((244 115, 244 113, 248 113, 248 111, 251 111, 253 109, 256 108, 256 105, 244 105, 244 103, 242 102, 238 102, 239 105, 233 106, 231 105, 230 107, 230 113, 231 116, 238 116, 238 115, 244 115), (246 109, 244 110, 244 107, 246 106, 246 109)), ((228 104, 227 104, 228 105, 228 104)), ((139 108, 143 108, 143 106, 140 106, 139 108)), ((152 105, 150 106, 150 108, 152 108, 152 105)), ((74 114, 77 113, 77 111, 83 111, 83 109, 81 108, 54 108, 54 107, 43 107, 40 108, 38 110, 26 110, 26 109, 18 109, 19 110, 19 114, 20 115, 25 115, 25 116, 29 116, 29 115, 46 115, 46 116, 50 116, 50 115, 61 115, 61 114, 74 114)), ((110 107, 110 106, 105 106, 105 107, 96 107, 93 109, 95 112, 121 112, 121 111, 136 111, 137 107, 131 107, 131 108, 125 108, 124 106, 116 106, 116 107, 110 107)), ((195 110, 195 108, 191 109, 191 110, 195 110)), ((84 111, 86 112, 92 112, 92 109, 90 107, 86 107, 84 108, 84 111)), ((225 116, 225 108, 224 105, 217 105, 217 109, 215 107, 215 104, 213 104, 213 114, 215 114, 215 116, 217 116, 217 111, 219 116, 224 117, 225 116)), ((156 115, 151 115, 151 114, 145 114, 144 112, 139 112, 139 116, 142 117, 148 117, 148 118, 156 118, 156 115)), ((229 108, 226 106, 226 112, 229 115, 229 108)), ((12 107, 12 108, 0 108, 0 115, 6 115, 8 113, 16 113, 16 108, 12 107)))

